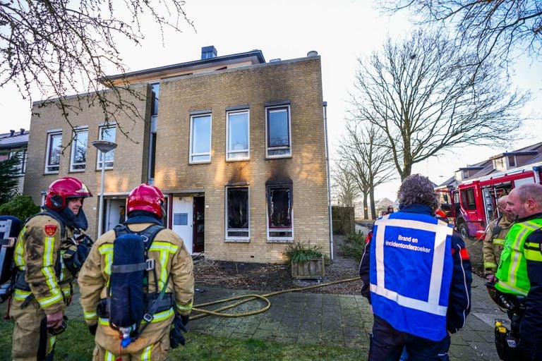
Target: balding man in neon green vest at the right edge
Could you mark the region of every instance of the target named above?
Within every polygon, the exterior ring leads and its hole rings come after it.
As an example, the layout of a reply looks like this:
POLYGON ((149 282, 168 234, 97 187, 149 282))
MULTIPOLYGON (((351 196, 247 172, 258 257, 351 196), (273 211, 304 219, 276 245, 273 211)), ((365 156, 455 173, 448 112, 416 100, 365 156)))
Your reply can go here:
POLYGON ((542 185, 514 188, 506 211, 516 219, 505 239, 495 288, 512 298, 524 298, 519 360, 542 360, 542 185))

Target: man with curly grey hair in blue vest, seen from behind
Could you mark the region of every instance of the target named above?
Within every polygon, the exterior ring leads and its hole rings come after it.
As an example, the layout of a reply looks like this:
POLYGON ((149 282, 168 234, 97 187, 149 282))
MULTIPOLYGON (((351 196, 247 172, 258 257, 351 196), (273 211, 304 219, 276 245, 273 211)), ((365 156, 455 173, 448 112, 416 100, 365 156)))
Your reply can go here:
POLYGON ((373 309, 369 360, 449 360, 450 335, 471 305, 471 263, 459 233, 435 218, 433 183, 404 179, 399 212, 375 222, 360 264, 361 294, 373 309))

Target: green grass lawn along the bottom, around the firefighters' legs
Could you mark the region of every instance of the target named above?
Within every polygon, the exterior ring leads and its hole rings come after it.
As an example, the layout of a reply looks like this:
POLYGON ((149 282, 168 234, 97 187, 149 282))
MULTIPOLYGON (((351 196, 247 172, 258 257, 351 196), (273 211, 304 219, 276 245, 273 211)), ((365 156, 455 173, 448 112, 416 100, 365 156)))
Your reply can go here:
MULTIPOLYGON (((0 360, 11 360, 13 320, 0 319, 0 360)), ((366 360, 367 351, 331 348, 319 345, 274 343, 259 340, 235 340, 188 333, 186 347, 169 354, 170 360, 366 360)), ((92 360, 94 340, 84 322, 69 323, 59 335, 55 360, 92 360)))

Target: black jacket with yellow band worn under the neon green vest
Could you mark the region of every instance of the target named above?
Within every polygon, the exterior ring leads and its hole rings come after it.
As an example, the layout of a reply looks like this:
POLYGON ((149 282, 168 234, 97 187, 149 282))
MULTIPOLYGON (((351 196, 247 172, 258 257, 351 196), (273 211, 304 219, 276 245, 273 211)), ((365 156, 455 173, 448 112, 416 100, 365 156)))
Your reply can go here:
MULTIPOLYGON (((535 214, 542 220, 542 214, 535 214)), ((531 217, 529 217, 531 218, 531 217)), ((538 228, 526 237, 524 255, 527 264, 527 276, 531 288, 525 302, 525 314, 519 324, 519 335, 522 342, 529 343, 531 348, 538 348, 542 354, 542 229, 538 228)))

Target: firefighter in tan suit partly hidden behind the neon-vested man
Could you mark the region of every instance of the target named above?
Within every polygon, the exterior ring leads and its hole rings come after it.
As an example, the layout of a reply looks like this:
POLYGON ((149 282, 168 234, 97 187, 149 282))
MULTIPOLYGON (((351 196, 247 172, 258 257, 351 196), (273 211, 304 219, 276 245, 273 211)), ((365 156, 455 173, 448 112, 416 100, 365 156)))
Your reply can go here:
POLYGON ((486 238, 483 240, 483 269, 486 279, 495 283, 495 272, 500 261, 500 253, 505 245, 505 238, 514 219, 510 212, 506 212, 507 195, 497 201, 500 216, 490 222, 486 238))

